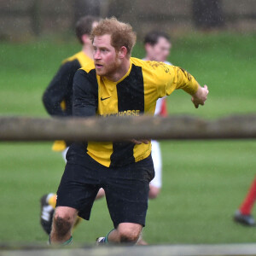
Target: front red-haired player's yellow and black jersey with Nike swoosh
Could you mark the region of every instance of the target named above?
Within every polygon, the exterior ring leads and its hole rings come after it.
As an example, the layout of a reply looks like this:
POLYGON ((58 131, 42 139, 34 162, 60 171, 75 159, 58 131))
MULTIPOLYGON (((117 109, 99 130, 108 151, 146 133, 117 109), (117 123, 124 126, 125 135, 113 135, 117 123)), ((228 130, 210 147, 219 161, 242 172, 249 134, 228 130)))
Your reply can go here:
MULTIPOLYGON (((73 115, 154 115, 157 99, 176 89, 192 95, 198 90, 198 83, 182 68, 163 62, 131 58, 128 72, 117 82, 97 76, 94 65, 88 64, 74 77, 73 115)), ((88 142, 86 150, 103 166, 123 166, 147 158, 151 144, 88 142)))

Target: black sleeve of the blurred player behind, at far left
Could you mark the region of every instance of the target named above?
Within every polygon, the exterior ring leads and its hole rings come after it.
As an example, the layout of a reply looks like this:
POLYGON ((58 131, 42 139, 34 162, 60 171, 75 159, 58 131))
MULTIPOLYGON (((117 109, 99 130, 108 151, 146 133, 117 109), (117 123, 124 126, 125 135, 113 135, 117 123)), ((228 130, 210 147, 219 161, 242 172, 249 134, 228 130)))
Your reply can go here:
POLYGON ((68 113, 61 109, 61 102, 72 93, 73 76, 79 68, 78 60, 67 61, 44 91, 44 107, 50 115, 67 116, 68 113))

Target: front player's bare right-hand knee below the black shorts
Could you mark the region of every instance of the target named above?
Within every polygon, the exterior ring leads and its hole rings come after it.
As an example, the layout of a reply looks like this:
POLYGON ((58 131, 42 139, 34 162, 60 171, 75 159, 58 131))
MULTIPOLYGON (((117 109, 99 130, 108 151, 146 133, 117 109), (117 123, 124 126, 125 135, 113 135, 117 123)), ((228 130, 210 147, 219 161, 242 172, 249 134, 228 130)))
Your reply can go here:
POLYGON ((119 224, 119 237, 120 242, 131 242, 136 243, 141 231, 142 226, 140 224, 119 224))

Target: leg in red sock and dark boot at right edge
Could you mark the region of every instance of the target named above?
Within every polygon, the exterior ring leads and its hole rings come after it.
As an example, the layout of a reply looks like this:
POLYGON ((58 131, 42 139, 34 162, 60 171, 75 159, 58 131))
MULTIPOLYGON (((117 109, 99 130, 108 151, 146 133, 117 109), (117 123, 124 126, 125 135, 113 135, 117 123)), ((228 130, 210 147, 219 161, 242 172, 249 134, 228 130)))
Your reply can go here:
POLYGON ((242 201, 241 206, 234 215, 234 221, 247 226, 255 226, 255 220, 251 214, 253 205, 256 201, 256 177, 247 193, 246 198, 242 201))

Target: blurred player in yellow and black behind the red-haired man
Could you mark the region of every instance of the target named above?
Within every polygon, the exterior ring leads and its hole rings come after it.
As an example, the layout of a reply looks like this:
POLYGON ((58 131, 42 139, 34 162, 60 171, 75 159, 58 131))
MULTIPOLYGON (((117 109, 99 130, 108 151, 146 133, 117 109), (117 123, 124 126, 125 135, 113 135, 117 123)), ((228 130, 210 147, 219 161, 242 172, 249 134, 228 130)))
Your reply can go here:
MULTIPOLYGON (((84 16, 76 24, 76 35, 82 44, 82 49, 77 54, 62 62, 61 67, 55 74, 44 91, 43 102, 47 112, 52 116, 66 117, 72 115, 73 100, 73 76, 80 67, 90 63, 93 65, 93 48, 90 41, 91 29, 98 24, 100 19, 94 16, 84 16)), ((53 150, 61 151, 66 161, 68 142, 56 141, 53 150)), ((101 198, 104 191, 101 189, 97 198, 101 198)), ((49 234, 51 230, 52 217, 56 204, 56 195, 49 193, 41 197, 40 223, 44 231, 49 234)))

